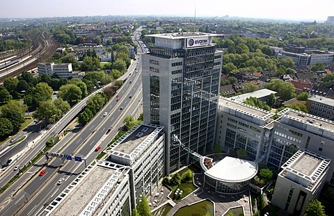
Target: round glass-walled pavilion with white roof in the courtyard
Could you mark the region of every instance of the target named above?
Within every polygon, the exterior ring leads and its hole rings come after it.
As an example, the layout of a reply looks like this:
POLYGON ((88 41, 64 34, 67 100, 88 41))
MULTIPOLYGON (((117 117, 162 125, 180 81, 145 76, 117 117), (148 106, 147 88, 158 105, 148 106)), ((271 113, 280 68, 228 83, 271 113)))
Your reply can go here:
POLYGON ((204 170, 204 188, 218 194, 245 192, 249 188, 250 180, 257 174, 257 169, 254 161, 225 157, 204 170))

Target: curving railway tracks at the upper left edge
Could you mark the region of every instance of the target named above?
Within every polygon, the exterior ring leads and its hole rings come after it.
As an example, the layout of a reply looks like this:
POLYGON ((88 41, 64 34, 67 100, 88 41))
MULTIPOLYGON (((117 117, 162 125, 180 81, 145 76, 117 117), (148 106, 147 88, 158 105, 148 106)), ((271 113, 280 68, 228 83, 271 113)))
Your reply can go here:
POLYGON ((8 77, 15 77, 24 71, 37 67, 37 63, 53 56, 60 46, 56 40, 43 31, 40 35, 29 35, 31 46, 15 53, 8 53, 0 59, 0 83, 8 77))

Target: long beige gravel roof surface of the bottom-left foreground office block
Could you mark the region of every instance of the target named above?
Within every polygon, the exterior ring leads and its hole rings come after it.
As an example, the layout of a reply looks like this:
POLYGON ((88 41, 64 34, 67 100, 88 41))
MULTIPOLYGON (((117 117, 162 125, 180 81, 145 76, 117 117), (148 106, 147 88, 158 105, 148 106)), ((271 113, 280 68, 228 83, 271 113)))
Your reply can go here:
POLYGON ((79 215, 114 172, 115 169, 94 167, 57 206, 52 215, 79 215))

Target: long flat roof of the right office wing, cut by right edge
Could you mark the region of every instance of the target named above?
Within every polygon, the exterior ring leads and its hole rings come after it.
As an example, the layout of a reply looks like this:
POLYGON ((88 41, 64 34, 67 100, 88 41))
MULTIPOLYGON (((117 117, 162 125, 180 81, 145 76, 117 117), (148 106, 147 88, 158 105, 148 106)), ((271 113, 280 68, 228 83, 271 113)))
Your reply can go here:
POLYGON ((332 133, 334 133, 334 122, 328 119, 324 119, 315 115, 310 115, 308 113, 303 113, 298 110, 293 110, 289 108, 280 111, 278 115, 282 115, 283 117, 289 117, 296 121, 300 121, 318 128, 324 128, 327 131, 331 131, 332 133))

